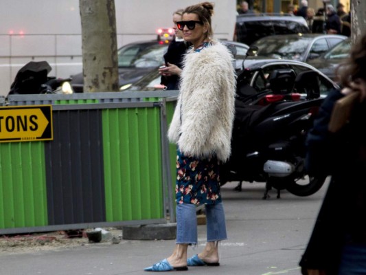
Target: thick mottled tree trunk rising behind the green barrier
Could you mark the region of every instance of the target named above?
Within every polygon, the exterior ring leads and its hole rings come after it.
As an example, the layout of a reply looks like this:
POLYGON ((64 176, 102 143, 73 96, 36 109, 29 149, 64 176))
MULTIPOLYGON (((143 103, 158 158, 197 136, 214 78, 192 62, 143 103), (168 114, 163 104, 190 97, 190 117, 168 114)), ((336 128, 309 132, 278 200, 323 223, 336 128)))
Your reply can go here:
POLYGON ((118 91, 114 0, 80 0, 84 92, 118 91))

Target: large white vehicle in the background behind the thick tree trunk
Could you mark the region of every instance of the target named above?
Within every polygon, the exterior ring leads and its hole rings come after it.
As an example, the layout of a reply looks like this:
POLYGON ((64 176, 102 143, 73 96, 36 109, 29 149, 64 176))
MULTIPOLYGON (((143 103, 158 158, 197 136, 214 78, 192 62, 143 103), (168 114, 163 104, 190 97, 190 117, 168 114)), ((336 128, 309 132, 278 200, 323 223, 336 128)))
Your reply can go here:
MULTIPOLYGON (((95 0, 97 1, 97 0, 95 0)), ((117 45, 157 38, 172 25, 172 13, 200 0, 115 0, 117 45)), ((216 38, 233 37, 236 0, 213 1, 216 38)), ((47 61, 49 76, 82 72, 79 0, 3 0, 0 9, 0 96, 7 96, 16 73, 30 61, 47 61)))

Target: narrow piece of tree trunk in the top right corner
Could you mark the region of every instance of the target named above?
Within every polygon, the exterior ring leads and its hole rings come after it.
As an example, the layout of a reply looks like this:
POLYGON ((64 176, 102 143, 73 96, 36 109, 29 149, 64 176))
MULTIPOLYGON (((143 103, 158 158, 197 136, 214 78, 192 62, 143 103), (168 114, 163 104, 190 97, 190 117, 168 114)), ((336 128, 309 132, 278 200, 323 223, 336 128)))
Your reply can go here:
POLYGON ((366 1, 351 0, 351 37, 352 44, 366 30, 366 1))

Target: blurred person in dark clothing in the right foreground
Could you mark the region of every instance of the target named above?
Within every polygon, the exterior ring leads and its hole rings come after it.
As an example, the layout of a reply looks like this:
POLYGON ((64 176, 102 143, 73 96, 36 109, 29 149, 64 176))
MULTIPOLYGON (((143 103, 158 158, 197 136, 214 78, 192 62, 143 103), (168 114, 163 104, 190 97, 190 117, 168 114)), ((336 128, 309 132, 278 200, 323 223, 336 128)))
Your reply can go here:
POLYGON ((331 175, 310 241, 299 265, 302 274, 366 274, 366 36, 339 67, 341 90, 323 102, 307 137, 310 175, 331 175), (348 122, 335 133, 328 124, 336 100, 359 93, 348 122))

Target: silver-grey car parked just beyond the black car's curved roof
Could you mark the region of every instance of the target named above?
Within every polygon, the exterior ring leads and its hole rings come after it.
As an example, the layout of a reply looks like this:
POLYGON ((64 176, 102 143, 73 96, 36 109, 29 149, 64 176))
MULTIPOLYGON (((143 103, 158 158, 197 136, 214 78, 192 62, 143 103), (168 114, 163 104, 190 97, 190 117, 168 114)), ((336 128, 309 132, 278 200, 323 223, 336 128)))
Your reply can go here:
POLYGON ((263 37, 251 46, 258 47, 258 56, 308 62, 345 39, 338 34, 283 34, 263 37))

